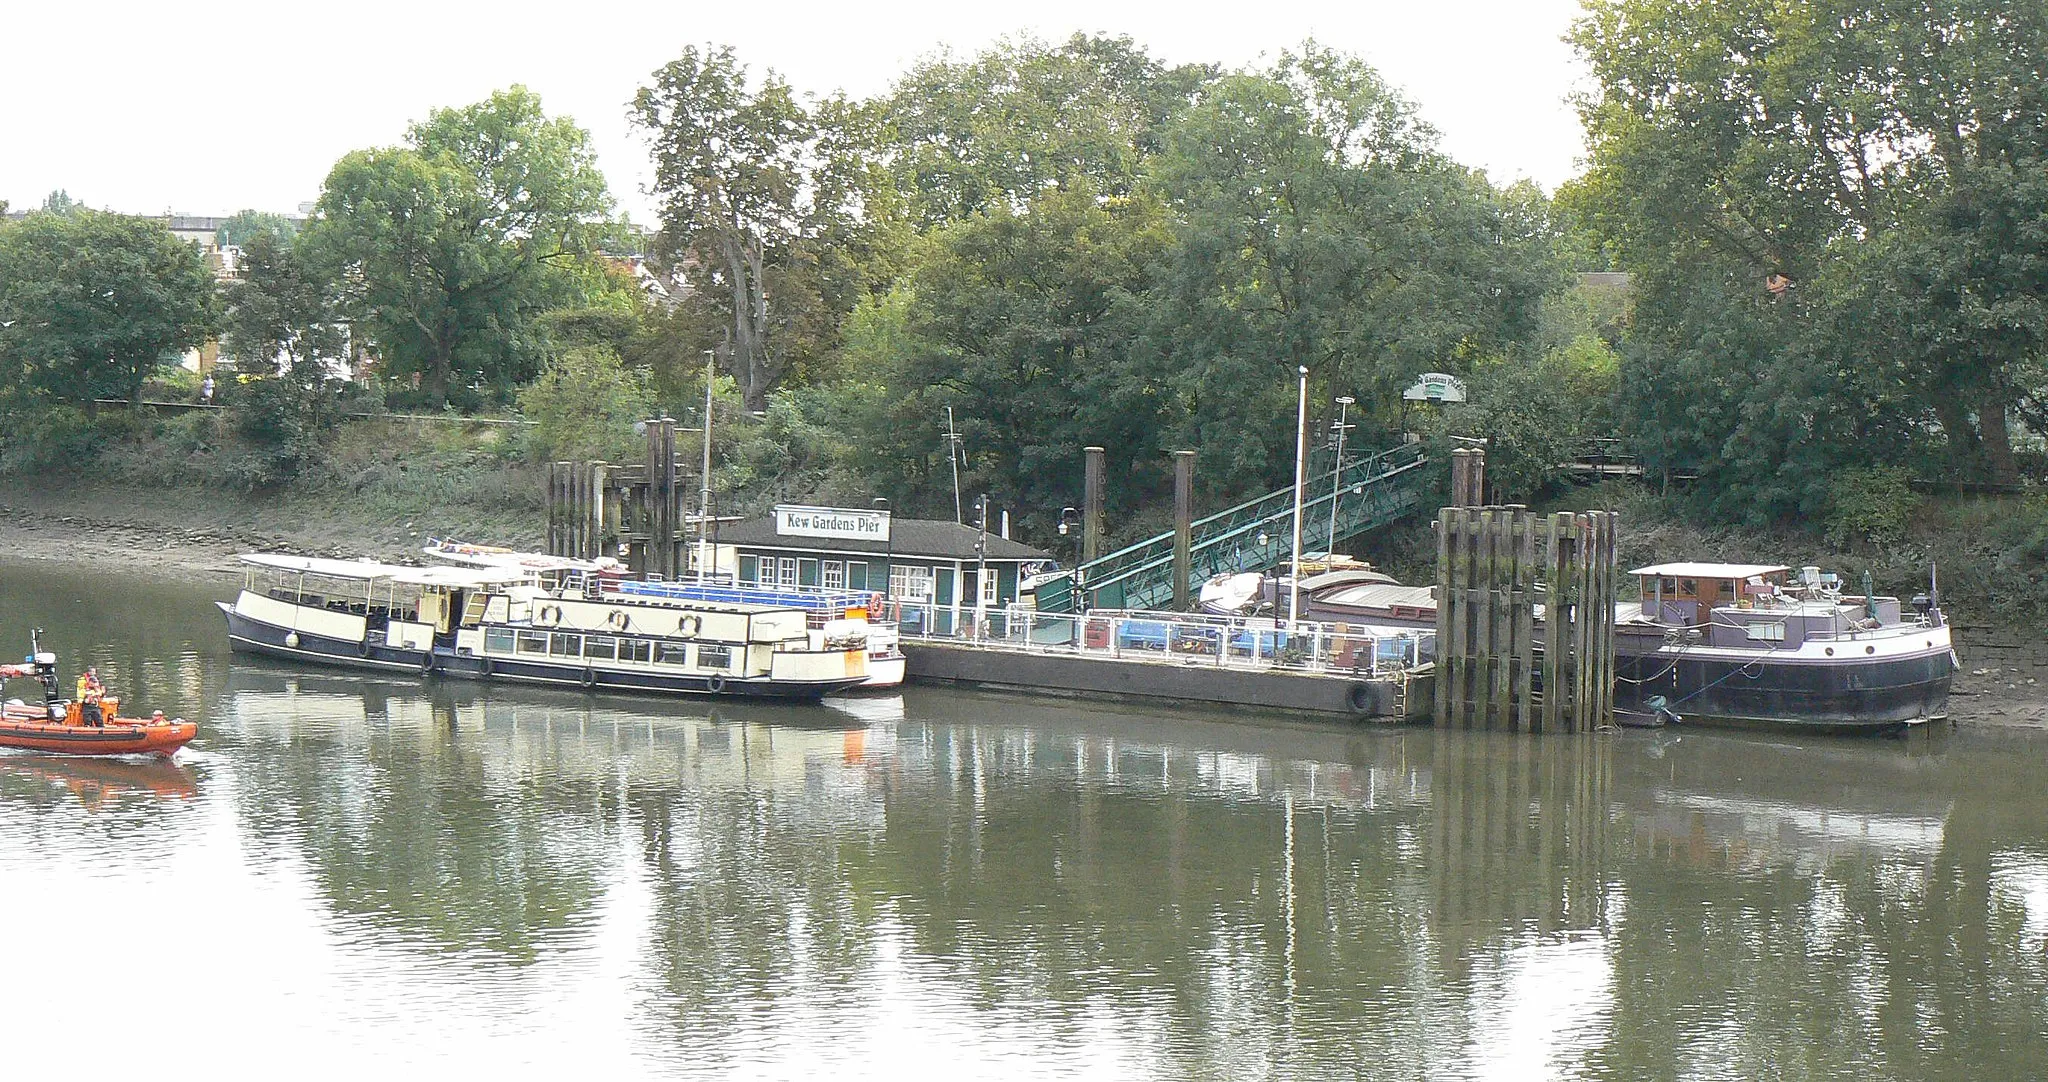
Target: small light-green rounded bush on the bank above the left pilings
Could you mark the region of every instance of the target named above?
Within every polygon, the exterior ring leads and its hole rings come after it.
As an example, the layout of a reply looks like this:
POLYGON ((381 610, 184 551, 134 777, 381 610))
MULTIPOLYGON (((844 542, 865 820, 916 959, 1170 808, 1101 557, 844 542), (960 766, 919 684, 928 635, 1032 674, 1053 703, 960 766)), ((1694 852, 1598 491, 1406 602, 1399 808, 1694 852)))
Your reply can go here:
POLYGON ((573 348, 551 361, 520 389, 518 408, 532 422, 526 441, 537 461, 645 457, 633 422, 653 414, 653 396, 645 375, 627 371, 606 346, 573 348))

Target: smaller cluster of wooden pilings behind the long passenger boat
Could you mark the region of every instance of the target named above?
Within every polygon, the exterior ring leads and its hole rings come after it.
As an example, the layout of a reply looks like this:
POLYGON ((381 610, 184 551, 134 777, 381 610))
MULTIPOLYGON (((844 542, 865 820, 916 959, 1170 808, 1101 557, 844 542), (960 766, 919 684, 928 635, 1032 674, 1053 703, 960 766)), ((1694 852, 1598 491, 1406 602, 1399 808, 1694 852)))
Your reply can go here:
POLYGON ((547 551, 616 557, 635 574, 682 578, 690 516, 678 502, 676 420, 647 420, 647 461, 547 463, 547 551))

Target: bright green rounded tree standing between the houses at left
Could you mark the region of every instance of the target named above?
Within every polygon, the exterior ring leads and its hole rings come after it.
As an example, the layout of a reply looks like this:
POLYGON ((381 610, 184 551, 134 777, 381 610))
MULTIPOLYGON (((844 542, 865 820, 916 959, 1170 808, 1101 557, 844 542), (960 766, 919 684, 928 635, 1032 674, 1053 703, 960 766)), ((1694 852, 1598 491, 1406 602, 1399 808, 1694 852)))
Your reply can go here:
POLYGON ((432 113, 406 141, 344 156, 301 246, 338 268, 385 371, 416 375, 432 404, 471 381, 520 383, 541 363, 535 320, 584 301, 575 262, 606 234, 590 135, 514 86, 432 113))

